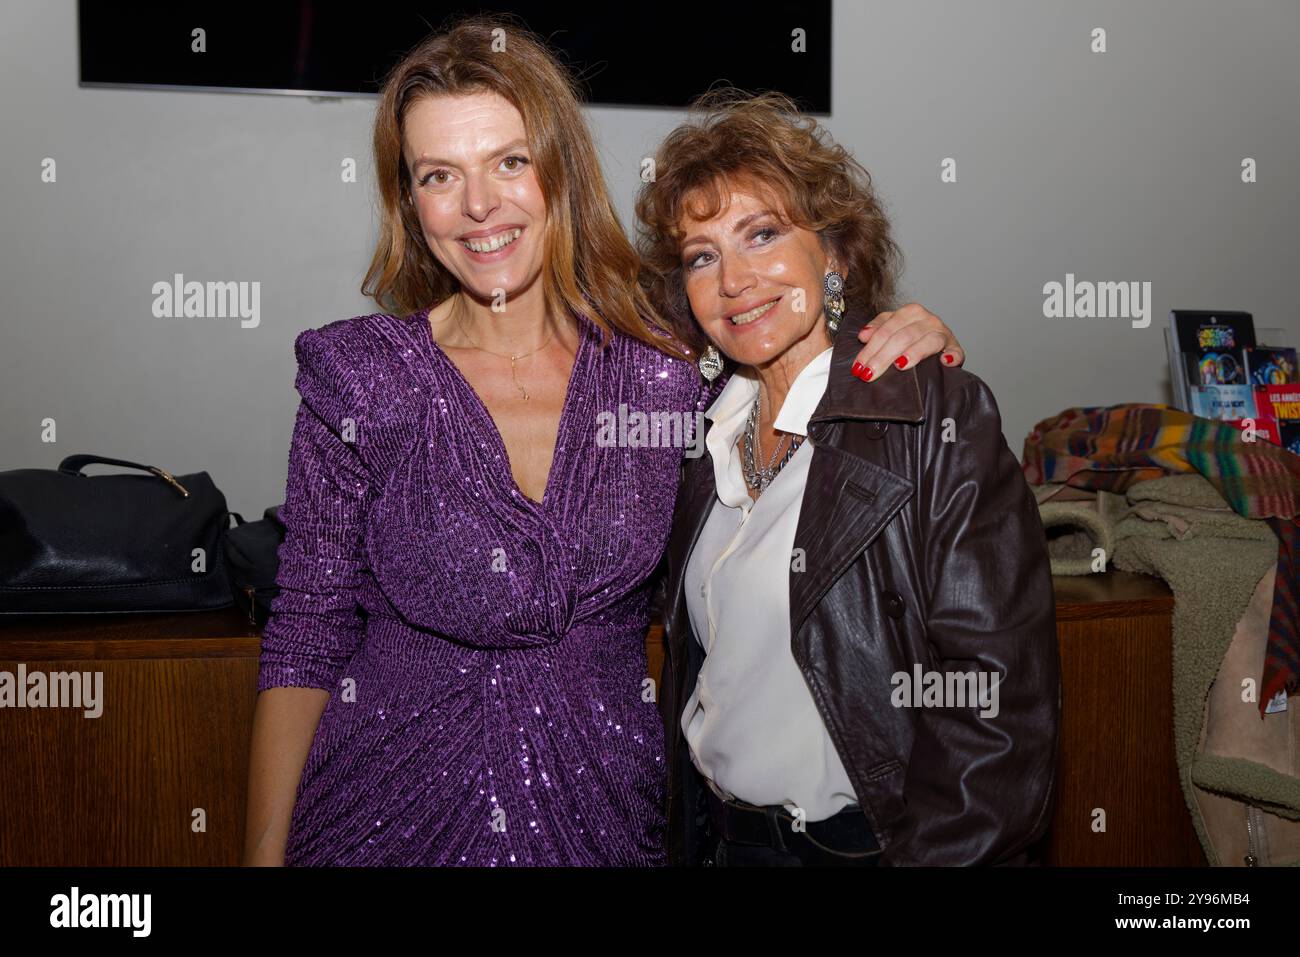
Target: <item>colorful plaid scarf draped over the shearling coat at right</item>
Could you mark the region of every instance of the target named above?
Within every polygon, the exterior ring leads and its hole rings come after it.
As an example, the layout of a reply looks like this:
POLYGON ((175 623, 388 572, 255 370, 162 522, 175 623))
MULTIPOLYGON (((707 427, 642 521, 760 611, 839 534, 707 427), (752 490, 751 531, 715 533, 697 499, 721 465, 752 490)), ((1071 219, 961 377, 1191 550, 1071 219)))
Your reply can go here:
POLYGON ((1122 493, 1135 482, 1200 472, 1232 510, 1261 519, 1278 536, 1278 573, 1260 688, 1260 715, 1279 692, 1300 687, 1300 455, 1247 441, 1228 423, 1169 406, 1067 408, 1024 439, 1024 477, 1122 493))

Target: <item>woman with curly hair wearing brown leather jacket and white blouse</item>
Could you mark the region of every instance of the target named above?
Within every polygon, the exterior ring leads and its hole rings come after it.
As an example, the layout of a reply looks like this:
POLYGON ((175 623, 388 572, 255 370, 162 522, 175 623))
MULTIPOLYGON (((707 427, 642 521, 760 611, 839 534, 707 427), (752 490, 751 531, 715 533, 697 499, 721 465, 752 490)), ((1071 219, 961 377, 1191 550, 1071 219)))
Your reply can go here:
POLYGON ((850 381, 898 251, 871 177, 785 98, 705 98, 655 170, 651 304, 734 369, 668 544, 673 859, 1027 862, 1056 607, 992 393, 939 359, 850 381))

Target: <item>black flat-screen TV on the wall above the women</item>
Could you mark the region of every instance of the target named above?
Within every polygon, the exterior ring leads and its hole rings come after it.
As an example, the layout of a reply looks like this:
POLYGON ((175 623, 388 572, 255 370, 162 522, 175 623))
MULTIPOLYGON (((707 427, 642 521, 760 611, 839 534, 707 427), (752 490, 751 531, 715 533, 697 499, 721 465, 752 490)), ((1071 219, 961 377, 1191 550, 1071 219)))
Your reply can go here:
POLYGON ((387 70, 465 13, 508 13, 580 78, 586 101, 684 107, 729 85, 831 112, 831 3, 365 4, 79 0, 81 85, 373 96, 387 70), (202 30, 204 51, 196 52, 202 30))

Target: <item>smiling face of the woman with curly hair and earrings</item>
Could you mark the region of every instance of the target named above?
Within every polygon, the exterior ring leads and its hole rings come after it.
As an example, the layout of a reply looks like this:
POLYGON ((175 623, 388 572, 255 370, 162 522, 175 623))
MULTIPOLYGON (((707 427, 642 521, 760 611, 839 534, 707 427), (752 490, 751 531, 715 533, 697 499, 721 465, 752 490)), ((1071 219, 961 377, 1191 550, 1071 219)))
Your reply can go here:
POLYGON ((682 280, 705 335, 741 365, 802 368, 829 348, 822 283, 835 260, 818 234, 783 222, 777 202, 744 186, 724 186, 710 220, 690 208, 688 198, 682 280))

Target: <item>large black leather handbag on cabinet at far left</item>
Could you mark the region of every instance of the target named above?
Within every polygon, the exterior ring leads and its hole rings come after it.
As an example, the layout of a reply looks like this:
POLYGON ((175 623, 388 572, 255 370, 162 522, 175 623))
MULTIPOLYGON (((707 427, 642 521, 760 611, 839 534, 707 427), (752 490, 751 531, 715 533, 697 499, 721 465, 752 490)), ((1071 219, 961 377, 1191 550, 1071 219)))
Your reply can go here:
POLYGON ((101 455, 0 472, 0 614, 230 607, 229 524, 207 472, 101 455), (91 463, 150 475, 91 477, 81 471, 91 463))

